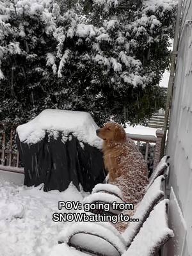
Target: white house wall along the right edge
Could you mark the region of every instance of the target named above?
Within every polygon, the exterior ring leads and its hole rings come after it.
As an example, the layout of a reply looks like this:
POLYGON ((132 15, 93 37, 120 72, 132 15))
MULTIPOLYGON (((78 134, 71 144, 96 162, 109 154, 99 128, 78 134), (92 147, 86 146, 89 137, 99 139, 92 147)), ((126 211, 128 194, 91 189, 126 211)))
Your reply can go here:
POLYGON ((192 256, 192 22, 190 20, 192 20, 192 1, 184 0, 167 150, 171 157, 168 188, 173 188, 182 214, 177 214, 176 210, 171 211, 177 216, 173 221, 170 216, 171 225, 175 226, 175 233, 180 236, 173 239, 172 245, 168 244, 173 248, 170 250, 172 253, 164 253, 164 255, 169 256, 192 256), (182 227, 177 225, 178 223, 183 224, 182 227), (179 250, 176 249, 177 244, 180 244, 179 250))

